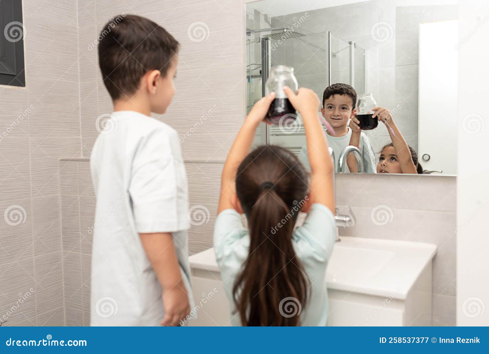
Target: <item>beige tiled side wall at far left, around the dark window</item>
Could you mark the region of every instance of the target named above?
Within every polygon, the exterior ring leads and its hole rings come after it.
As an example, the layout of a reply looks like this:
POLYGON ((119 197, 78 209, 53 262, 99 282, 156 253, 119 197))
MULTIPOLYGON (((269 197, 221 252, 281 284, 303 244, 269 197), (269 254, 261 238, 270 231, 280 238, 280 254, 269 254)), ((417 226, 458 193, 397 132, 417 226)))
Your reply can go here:
POLYGON ((26 87, 0 87, 0 321, 64 325, 58 158, 82 154, 77 6, 22 5, 26 87))

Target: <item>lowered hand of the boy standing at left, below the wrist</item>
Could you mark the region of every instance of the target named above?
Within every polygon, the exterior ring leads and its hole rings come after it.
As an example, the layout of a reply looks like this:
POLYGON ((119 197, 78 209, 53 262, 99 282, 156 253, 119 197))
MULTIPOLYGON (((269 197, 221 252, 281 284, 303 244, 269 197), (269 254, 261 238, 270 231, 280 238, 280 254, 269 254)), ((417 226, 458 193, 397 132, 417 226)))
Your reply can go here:
POLYGON ((163 309, 165 309, 165 318, 161 320, 162 326, 178 326, 180 321, 190 313, 190 304, 188 295, 183 283, 175 285, 169 290, 163 290, 163 309))

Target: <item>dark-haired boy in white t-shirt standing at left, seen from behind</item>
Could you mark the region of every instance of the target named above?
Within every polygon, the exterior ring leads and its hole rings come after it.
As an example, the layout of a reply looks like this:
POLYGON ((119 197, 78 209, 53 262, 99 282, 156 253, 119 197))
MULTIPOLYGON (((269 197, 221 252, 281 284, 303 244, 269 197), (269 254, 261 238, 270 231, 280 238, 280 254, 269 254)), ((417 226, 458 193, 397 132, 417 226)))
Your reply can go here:
POLYGON ((177 326, 193 307, 187 179, 178 134, 150 114, 175 93, 178 42, 155 22, 122 17, 98 44, 114 112, 90 156, 90 325, 177 326))

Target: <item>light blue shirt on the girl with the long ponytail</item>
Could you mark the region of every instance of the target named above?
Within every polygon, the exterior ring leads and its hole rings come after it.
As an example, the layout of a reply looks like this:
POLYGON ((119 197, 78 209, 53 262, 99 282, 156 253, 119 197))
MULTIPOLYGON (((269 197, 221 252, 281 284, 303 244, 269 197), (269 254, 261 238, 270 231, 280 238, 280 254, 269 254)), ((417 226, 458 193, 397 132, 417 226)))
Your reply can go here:
MULTIPOLYGON (((335 232, 331 210, 323 204, 314 203, 304 224, 297 227, 292 234, 295 253, 310 283, 308 289, 310 297, 306 308, 298 306, 295 302, 297 309, 301 311, 301 326, 326 326, 328 319, 326 266, 333 251, 335 232)), ((248 256, 249 232, 244 228, 241 216, 236 210, 226 209, 218 215, 214 225, 214 250, 229 300, 231 324, 241 326, 240 315, 234 313, 232 291, 236 276, 248 256)), ((287 301, 284 304, 286 303, 287 301)))

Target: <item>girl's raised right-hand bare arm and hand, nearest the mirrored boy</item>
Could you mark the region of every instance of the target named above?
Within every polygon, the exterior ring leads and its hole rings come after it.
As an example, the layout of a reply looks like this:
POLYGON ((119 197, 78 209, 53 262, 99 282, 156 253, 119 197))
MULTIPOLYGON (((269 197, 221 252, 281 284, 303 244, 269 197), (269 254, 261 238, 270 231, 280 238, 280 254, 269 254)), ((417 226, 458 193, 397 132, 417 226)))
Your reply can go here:
POLYGON ((334 215, 333 162, 328 141, 317 118, 319 99, 308 88, 299 88, 297 95, 289 87, 284 87, 284 91, 292 106, 301 113, 306 131, 307 154, 311 165, 311 201, 327 206, 334 215))

